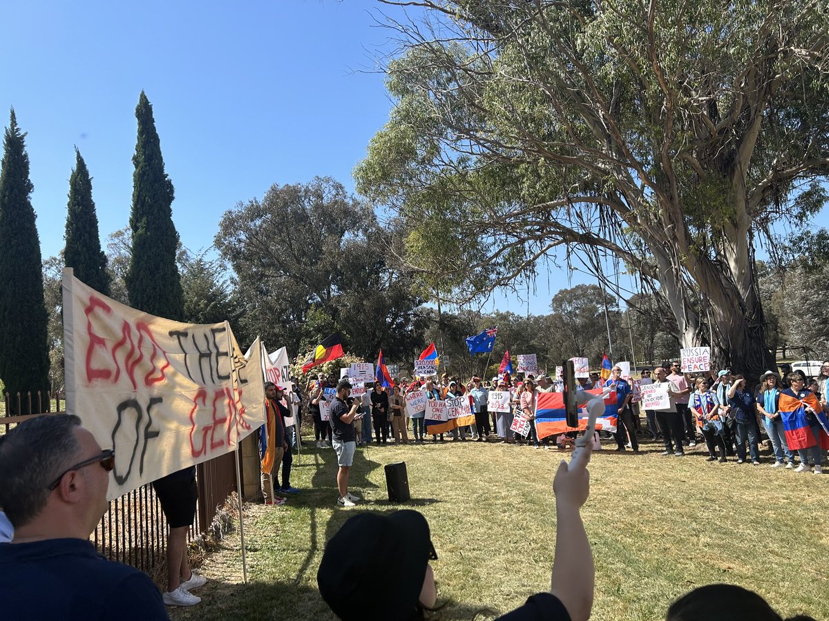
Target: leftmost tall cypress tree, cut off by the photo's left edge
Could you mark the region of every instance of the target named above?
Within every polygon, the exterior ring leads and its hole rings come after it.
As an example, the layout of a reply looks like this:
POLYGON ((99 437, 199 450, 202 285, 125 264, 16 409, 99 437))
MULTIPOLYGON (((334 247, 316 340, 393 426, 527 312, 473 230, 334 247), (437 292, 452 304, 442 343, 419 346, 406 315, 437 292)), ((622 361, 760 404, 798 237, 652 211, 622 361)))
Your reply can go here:
POLYGON ((25 138, 12 108, 0 163, 0 378, 12 395, 8 413, 27 414, 27 392, 32 393, 32 413, 49 409, 49 348, 41 243, 30 200, 34 188, 25 138), (17 392, 22 397, 21 411, 17 392))

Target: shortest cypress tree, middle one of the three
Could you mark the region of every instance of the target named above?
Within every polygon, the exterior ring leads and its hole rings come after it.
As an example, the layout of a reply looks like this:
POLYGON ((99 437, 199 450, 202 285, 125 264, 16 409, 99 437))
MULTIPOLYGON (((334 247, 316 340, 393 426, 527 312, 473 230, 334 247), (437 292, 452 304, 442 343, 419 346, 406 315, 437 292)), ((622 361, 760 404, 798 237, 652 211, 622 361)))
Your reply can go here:
POLYGON ((101 250, 98 234, 92 180, 78 147, 75 147, 75 168, 69 177, 66 248, 63 255, 66 267, 75 270, 76 278, 104 296, 109 296, 109 273, 106 271, 106 255, 101 250))

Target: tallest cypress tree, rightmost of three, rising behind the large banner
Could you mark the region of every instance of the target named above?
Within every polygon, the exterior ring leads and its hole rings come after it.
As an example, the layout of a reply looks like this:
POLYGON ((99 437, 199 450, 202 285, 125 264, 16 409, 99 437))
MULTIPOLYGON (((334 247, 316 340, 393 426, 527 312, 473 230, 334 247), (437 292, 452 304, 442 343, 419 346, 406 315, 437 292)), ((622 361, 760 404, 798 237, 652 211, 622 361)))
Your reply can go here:
POLYGON ((129 304, 167 319, 181 320, 182 282, 176 265, 178 233, 172 224, 172 181, 164 172, 153 106, 141 91, 135 108, 138 142, 133 156, 133 255, 126 276, 129 304))

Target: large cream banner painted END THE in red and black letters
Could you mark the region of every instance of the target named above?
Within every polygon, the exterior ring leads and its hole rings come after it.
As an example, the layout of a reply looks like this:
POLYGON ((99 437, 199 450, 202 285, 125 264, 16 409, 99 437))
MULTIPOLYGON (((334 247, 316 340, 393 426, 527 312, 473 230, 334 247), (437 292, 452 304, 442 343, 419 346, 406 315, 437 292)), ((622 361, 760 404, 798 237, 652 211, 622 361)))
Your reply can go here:
POLYGON ((235 450, 264 424, 259 339, 124 306, 63 272, 66 411, 115 450, 111 500, 235 450))

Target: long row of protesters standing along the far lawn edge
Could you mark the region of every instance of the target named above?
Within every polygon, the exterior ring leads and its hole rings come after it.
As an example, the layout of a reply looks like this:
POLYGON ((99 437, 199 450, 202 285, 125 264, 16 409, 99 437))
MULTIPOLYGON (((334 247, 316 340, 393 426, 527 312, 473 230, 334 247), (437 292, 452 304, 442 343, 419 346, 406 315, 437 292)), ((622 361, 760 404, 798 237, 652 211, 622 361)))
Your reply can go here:
MULTIPOLYGON (((742 375, 733 374, 730 369, 681 373, 680 363, 676 361, 653 369, 642 368, 635 386, 633 380, 623 378, 622 373, 623 369, 617 365, 611 369, 609 378, 590 373, 587 378, 579 378, 576 386, 579 390, 615 389, 618 423, 613 439, 618 451, 633 450, 638 453, 640 439, 648 439, 662 441, 662 455, 683 456, 687 449, 696 449, 700 442, 704 444, 710 461, 725 463, 735 460, 738 464, 750 462, 760 465, 762 430, 768 436, 773 468, 822 472, 825 451, 822 453, 821 443, 818 441, 817 446, 805 450, 790 450, 778 408, 781 395, 802 397, 807 392, 815 394, 821 407, 827 408, 829 362, 822 364, 817 378, 807 378, 800 370, 790 373, 787 365, 781 365, 780 373, 764 373, 759 385, 753 387, 747 385, 742 375), (667 383, 668 407, 660 410, 640 407, 638 388, 649 383, 667 383)), ((321 373, 316 380, 308 383, 301 396, 313 418, 318 448, 331 445, 332 426, 329 421, 322 420, 319 402, 325 398, 324 389, 334 385, 321 373)), ((526 378, 511 377, 509 374, 492 378, 476 376, 465 381, 448 373, 439 378, 414 378, 411 381, 403 377, 395 378, 391 390, 376 383, 364 395, 350 397, 358 400, 357 412, 361 415, 354 421, 356 446, 372 443, 387 445, 392 441, 395 444, 423 444, 449 440, 502 442, 534 446, 536 449, 561 448, 568 445, 565 435, 539 439, 535 425, 536 395, 560 391, 561 388, 560 381, 543 373, 527 375, 526 378), (410 412, 406 405, 405 395, 416 390, 423 390, 429 399, 467 397, 474 423, 458 426, 446 433, 429 434, 429 427, 424 425, 424 412, 410 412), (487 398, 491 391, 510 393, 508 412, 487 411, 487 398), (531 422, 526 436, 511 429, 514 417, 521 413, 531 422)), ((807 413, 807 418, 817 438, 822 428, 812 413, 807 413)))

